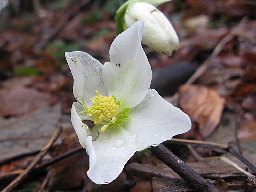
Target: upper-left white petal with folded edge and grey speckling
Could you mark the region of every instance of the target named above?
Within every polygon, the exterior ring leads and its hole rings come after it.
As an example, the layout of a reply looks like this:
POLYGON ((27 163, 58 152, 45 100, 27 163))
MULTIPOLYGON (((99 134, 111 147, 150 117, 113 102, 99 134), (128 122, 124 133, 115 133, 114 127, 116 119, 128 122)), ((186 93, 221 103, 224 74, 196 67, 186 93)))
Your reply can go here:
POLYGON ((101 76, 102 64, 91 55, 81 52, 65 52, 66 60, 74 78, 73 92, 75 98, 91 106, 90 98, 96 95, 97 89, 101 95, 108 96, 101 76))

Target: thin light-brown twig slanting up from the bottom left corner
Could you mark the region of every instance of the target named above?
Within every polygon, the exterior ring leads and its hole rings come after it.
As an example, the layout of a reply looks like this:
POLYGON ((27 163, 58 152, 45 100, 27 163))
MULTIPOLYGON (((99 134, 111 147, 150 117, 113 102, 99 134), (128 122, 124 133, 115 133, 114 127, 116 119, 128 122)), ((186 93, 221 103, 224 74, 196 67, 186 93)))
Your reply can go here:
POLYGON ((61 132, 61 127, 57 127, 51 137, 51 140, 47 143, 44 148, 41 149, 40 153, 36 158, 28 165, 28 167, 22 172, 18 177, 16 177, 7 187, 5 187, 1 192, 9 192, 14 187, 16 187, 35 167, 35 165, 42 159, 42 157, 47 153, 49 148, 52 146, 53 142, 58 138, 61 132))

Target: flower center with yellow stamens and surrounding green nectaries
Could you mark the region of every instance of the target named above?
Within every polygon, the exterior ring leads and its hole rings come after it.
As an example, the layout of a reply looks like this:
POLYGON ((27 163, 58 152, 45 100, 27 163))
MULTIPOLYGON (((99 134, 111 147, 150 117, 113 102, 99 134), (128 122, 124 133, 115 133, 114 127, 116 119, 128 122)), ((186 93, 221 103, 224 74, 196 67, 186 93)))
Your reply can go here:
POLYGON ((106 131, 107 127, 114 127, 115 124, 121 125, 124 122, 121 119, 127 119, 129 116, 126 115, 130 113, 130 108, 125 108, 122 112, 119 112, 120 102, 116 102, 114 96, 103 96, 100 95, 97 90, 95 90, 96 96, 91 98, 92 106, 88 107, 83 102, 83 111, 79 113, 87 113, 87 116, 92 116, 94 119, 94 124, 104 124, 100 129, 101 132, 106 131), (119 112, 119 113, 118 113, 119 112))

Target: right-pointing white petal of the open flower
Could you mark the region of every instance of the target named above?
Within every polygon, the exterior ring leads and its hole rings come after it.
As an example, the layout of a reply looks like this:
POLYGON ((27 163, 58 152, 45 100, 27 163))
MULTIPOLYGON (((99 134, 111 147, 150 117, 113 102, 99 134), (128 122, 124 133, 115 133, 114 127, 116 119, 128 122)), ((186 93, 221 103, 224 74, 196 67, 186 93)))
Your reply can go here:
POLYGON ((165 101, 156 90, 131 109, 122 125, 137 141, 137 151, 158 145, 191 128, 190 118, 179 108, 165 101))

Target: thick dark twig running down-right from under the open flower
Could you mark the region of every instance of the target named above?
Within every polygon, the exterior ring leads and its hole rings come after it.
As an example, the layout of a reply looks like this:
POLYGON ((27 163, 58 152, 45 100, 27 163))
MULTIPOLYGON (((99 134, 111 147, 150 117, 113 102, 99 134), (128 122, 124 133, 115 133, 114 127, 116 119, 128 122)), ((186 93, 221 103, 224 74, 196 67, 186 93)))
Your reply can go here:
POLYGON ((180 177, 188 182, 189 185, 196 188, 198 191, 203 192, 221 192, 220 189, 205 180, 197 172, 191 169, 184 161, 175 156, 169 149, 163 144, 159 144, 157 147, 151 147, 149 150, 161 161, 163 161, 168 167, 176 172, 180 177))

